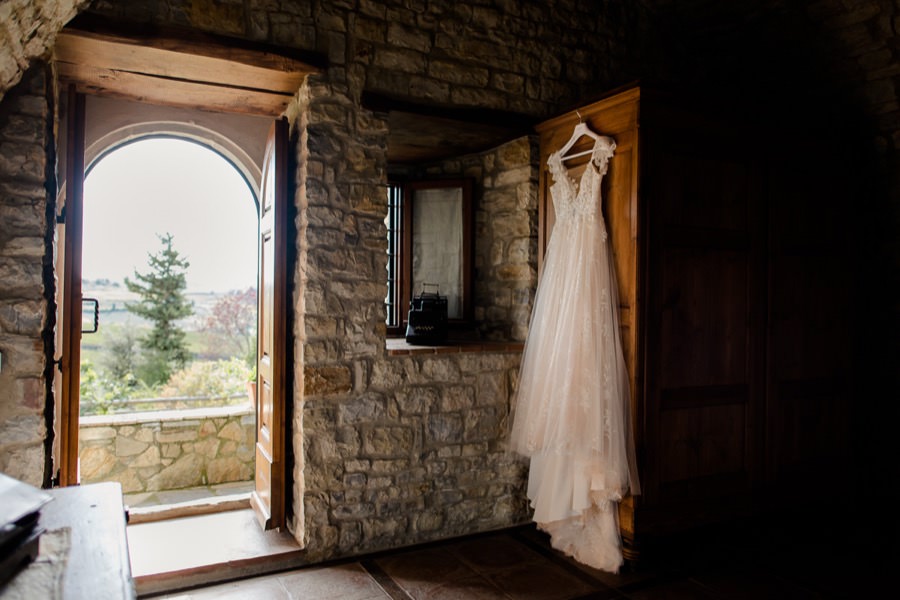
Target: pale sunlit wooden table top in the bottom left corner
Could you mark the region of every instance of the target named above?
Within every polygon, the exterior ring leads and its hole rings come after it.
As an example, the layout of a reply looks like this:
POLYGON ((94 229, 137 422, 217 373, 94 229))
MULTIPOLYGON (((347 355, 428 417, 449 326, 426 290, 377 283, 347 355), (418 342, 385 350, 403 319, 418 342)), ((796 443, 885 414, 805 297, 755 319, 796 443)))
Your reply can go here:
POLYGON ((40 526, 72 530, 63 598, 135 598, 122 486, 94 483, 48 492, 54 499, 41 509, 40 526))

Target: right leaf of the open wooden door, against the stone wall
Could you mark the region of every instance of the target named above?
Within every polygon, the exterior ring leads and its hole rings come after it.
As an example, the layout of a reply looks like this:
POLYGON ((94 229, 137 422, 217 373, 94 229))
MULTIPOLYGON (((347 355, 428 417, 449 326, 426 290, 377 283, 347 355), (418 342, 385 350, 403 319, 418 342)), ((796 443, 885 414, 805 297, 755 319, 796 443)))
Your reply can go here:
POLYGON ((287 397, 286 119, 269 131, 259 207, 259 326, 256 386, 256 489, 251 504, 265 529, 285 525, 287 397))

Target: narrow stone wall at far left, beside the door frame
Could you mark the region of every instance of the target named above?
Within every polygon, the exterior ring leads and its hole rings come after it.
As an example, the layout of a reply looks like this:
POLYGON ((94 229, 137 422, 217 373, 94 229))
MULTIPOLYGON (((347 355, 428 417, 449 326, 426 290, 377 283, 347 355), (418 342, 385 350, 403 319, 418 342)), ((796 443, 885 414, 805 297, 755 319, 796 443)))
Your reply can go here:
POLYGON ((30 69, 0 103, 0 471, 33 485, 49 474, 51 77, 30 69))

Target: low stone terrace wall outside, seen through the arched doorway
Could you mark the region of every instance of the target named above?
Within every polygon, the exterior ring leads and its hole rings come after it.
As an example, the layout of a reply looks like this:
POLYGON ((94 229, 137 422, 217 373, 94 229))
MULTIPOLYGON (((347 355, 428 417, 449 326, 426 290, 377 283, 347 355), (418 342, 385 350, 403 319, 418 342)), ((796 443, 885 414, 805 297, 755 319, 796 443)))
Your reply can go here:
POLYGON ((252 481, 249 404, 81 417, 81 481, 118 481, 126 494, 252 481))

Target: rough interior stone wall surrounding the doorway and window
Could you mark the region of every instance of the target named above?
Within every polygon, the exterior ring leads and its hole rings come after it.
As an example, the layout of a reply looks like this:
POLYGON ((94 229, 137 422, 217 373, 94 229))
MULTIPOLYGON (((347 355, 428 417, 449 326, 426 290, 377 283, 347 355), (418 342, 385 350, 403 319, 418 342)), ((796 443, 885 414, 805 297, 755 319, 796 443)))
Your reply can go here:
MULTIPOLYGON (((13 0, 4 8, 28 5, 43 4, 13 0)), ((298 368, 292 526, 308 541, 310 556, 343 556, 478 531, 517 522, 523 514, 517 487, 521 473, 512 476, 508 469, 516 467, 497 450, 505 435, 502 407, 512 393, 517 355, 397 357, 385 351, 381 219, 387 210, 388 130, 383 115, 360 105, 364 90, 438 106, 501 109, 542 118, 632 78, 656 76, 730 88, 726 108, 734 101, 747 114, 777 115, 772 123, 761 119, 770 125, 761 135, 771 135, 772 143, 777 143, 776 123, 807 113, 817 116, 808 121, 819 127, 845 121, 859 125, 851 127, 857 130, 852 138, 843 135, 848 129, 844 127, 836 145, 852 139, 866 160, 872 155, 872 168, 861 173, 860 197, 848 199, 848 206, 872 228, 871 239, 864 242, 876 260, 861 268, 857 283, 865 282, 861 297, 876 299, 876 314, 883 313, 886 320, 869 323, 868 330, 884 332, 884 339, 890 340, 879 342, 877 347, 890 346, 889 352, 876 353, 872 367, 893 369, 891 377, 896 378, 897 305, 883 292, 890 287, 879 293, 875 285, 892 281, 900 262, 900 45, 895 34, 898 8, 892 0, 95 0, 92 10, 111 18, 193 27, 327 55, 327 70, 313 76, 298 97, 294 129, 298 368), (507 387, 498 383, 496 389, 485 386, 479 391, 479 377, 506 381, 507 387), (462 390, 453 391, 457 386, 462 390), (469 389, 473 391, 465 391, 469 389), (409 396, 410 390, 424 400, 409 396), (454 408, 454 402, 472 402, 474 408, 494 412, 472 412, 485 420, 468 430, 466 419, 474 409, 454 408), (484 424, 491 419, 499 421, 484 424), (486 445, 485 462, 476 464, 463 454, 472 431, 493 435, 468 446, 473 450, 486 445), (452 454, 456 448, 459 456, 452 454), (422 457, 426 466, 420 469, 422 457), (474 487, 466 479, 472 468, 481 478, 474 487), (396 471, 392 474, 391 469, 396 471), (491 478, 506 487, 491 488, 491 478), (440 495, 439 490, 450 487, 458 493, 440 495), (405 496, 391 498, 395 488, 405 496), (481 490, 484 495, 478 496, 481 490), (480 500, 467 497, 470 492, 480 500), (494 505, 509 510, 488 514, 494 505), (477 515, 465 527, 454 516, 463 506, 477 515), (347 507, 353 508, 347 512, 347 507), (429 518, 441 527, 430 528, 429 518)), ((15 39, 49 47, 58 25, 42 20, 39 12, 22 14, 26 18, 18 20, 15 31, 23 33, 15 39)), ((0 92, 6 92, 24 65, 19 59, 0 60, 6 61, 3 69, 15 64, 12 75, 0 83, 0 92)), ((0 164, 0 210, 5 211, 0 269, 6 270, 0 290, 0 468, 40 481, 37 472, 47 471, 41 414, 47 397, 45 339, 52 325, 45 300, 49 263, 44 248, 46 214, 53 213, 43 186, 53 187, 54 182, 45 169, 52 161, 48 163, 44 153, 50 129, 38 89, 44 83, 36 86, 33 79, 43 74, 32 73, 6 93, 0 105, 0 156, 5 157, 0 164), (42 108, 35 114, 32 109, 38 104, 42 108), (10 211, 16 215, 12 221, 5 218, 10 211), (21 233, 10 233, 10 228, 21 233)), ((482 209, 512 206, 513 193, 519 202, 518 189, 512 186, 492 193, 496 190, 487 182, 498 178, 487 165, 491 159, 485 155, 478 160, 484 181, 482 209)), ((436 168, 454 170, 449 163, 436 168)), ((835 167, 823 167, 823 176, 828 168, 835 167)), ((494 268, 496 277, 478 292, 486 318, 505 308, 505 299, 491 300, 503 296, 492 286, 500 285, 503 260, 517 255, 513 240, 518 234, 510 231, 510 238, 504 238, 500 223, 480 222, 480 231, 491 243, 480 251, 479 265, 494 268)), ((516 221, 514 227, 519 226, 516 221)), ((521 247, 523 242, 518 243, 521 247)), ((486 327, 485 336, 522 334, 512 325, 521 324, 512 310, 515 303, 513 297, 509 328, 486 327)), ((873 311, 867 304, 862 313, 870 318, 873 311)), ((869 378, 866 385, 870 397, 895 395, 878 390, 869 378)), ((870 412, 880 423, 896 420, 885 418, 893 413, 870 412)), ((891 456, 888 450, 883 456, 891 456)))

